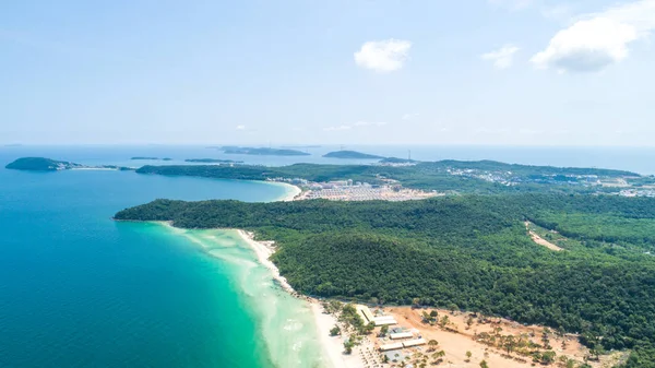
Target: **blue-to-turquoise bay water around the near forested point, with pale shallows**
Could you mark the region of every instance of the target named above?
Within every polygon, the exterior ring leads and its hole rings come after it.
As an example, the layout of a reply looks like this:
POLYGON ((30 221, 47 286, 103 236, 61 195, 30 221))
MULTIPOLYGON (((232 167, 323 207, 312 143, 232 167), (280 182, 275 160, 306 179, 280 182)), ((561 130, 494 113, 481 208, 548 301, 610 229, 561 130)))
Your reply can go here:
POLYGON ((320 367, 307 306, 235 234, 110 218, 156 198, 271 201, 286 190, 0 169, 0 367, 320 367))

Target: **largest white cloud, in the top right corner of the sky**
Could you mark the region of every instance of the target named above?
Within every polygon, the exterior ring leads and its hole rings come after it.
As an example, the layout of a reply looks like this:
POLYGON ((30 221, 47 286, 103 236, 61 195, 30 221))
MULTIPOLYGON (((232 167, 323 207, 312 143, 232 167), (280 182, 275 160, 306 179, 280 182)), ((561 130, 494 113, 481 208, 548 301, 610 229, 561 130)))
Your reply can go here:
POLYGON ((642 0, 581 16, 558 32, 531 61, 559 72, 599 71, 624 60, 629 45, 655 28, 655 0, 642 0))

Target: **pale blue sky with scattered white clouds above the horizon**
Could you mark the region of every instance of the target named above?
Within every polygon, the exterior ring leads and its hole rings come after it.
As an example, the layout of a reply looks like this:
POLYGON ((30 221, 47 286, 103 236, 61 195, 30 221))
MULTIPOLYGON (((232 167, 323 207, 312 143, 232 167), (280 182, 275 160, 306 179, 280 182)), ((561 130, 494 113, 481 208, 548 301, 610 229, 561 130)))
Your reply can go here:
POLYGON ((655 146, 655 0, 3 1, 0 144, 655 146))

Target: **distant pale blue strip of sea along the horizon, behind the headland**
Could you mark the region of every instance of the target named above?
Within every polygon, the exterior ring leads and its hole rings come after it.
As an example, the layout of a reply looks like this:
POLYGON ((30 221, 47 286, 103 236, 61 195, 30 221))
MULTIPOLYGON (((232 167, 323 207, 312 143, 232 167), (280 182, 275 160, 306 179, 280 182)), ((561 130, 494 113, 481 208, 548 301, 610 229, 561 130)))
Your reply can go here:
MULTIPOLYGON (((293 147, 293 146, 290 146, 293 147)), ((203 145, 86 145, 86 146, 0 146, 0 158, 17 158, 26 155, 46 156, 56 159, 73 161, 81 164, 115 164, 121 166, 177 165, 187 158, 222 158, 243 161, 247 164, 267 166, 295 163, 317 164, 368 164, 370 159, 325 158, 331 151, 361 151, 381 156, 408 157, 419 161, 493 159, 510 164, 551 165, 564 167, 600 167, 631 170, 644 175, 655 175, 655 146, 651 147, 588 147, 588 146, 465 146, 465 145, 322 145, 298 147, 309 156, 251 156, 229 155, 203 145), (170 157, 171 162, 131 161, 133 156, 170 157)))

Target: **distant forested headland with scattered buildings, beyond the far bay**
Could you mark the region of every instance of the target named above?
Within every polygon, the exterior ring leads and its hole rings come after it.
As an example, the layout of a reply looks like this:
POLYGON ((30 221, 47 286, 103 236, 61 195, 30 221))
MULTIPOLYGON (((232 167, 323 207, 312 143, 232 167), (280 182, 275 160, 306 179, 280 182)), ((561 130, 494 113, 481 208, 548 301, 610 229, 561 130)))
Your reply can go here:
POLYGON ((395 159, 385 161, 385 163, 409 165, 144 166, 138 173, 245 180, 302 178, 310 181, 331 181, 353 179, 372 185, 385 183, 386 179, 391 179, 412 189, 479 194, 544 191, 595 192, 603 188, 592 188, 592 183, 603 178, 611 180, 639 178, 639 175, 634 173, 611 169, 525 166, 489 161, 427 163, 395 159))

